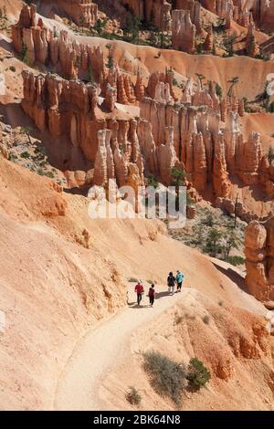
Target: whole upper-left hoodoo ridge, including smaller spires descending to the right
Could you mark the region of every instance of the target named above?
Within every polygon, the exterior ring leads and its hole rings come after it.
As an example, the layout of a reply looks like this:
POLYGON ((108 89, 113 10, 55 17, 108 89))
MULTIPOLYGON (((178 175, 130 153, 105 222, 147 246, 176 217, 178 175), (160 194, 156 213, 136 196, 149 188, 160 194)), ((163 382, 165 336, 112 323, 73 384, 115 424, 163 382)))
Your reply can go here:
POLYGON ((25 52, 25 58, 22 59, 30 66, 38 63, 46 65, 53 73, 57 72, 64 78, 97 82, 103 96, 108 92, 109 102, 110 86, 116 90, 112 98, 114 103, 134 103, 144 95, 142 75, 139 72, 133 86, 131 78, 121 73, 118 66, 105 66, 100 47, 79 44, 68 37, 67 31, 62 30, 57 34, 44 26, 43 21, 37 19, 35 5, 23 6, 18 23, 12 26, 12 39, 19 55, 25 52))

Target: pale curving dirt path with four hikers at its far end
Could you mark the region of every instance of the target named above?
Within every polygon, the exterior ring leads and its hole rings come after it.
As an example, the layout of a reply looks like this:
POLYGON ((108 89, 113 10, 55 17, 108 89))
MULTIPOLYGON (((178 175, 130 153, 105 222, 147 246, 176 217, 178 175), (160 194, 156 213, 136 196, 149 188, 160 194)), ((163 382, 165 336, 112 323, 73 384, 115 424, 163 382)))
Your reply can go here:
MULTIPOLYGON (((131 285, 130 302, 135 298, 132 288, 131 285)), ((123 309, 79 340, 58 381, 54 404, 56 410, 101 409, 98 398, 100 381, 125 359, 132 333, 157 318, 175 302, 195 295, 195 289, 190 288, 174 296, 165 296, 166 288, 158 288, 157 291, 160 292, 160 298, 156 299, 153 309, 147 307, 148 298, 144 297, 140 309, 134 304, 123 309)))

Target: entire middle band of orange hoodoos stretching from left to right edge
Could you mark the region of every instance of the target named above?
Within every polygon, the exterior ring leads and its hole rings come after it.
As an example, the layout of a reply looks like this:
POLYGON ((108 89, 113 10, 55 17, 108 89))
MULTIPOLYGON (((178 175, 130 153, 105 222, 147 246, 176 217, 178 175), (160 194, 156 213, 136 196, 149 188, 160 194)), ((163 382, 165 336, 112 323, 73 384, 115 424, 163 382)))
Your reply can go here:
MULTIPOLYGON (((142 99, 136 118, 121 117, 115 104, 117 90, 111 85, 101 103, 97 85, 52 74, 35 76, 29 71, 23 72, 22 107, 40 131, 54 138, 66 136, 71 148, 79 147, 87 160, 96 163, 96 183, 112 178, 113 158, 120 184, 128 182, 129 171, 135 168, 131 163, 138 166, 136 182, 143 183, 144 172, 166 185, 173 182, 171 172, 176 166, 185 170, 200 194, 212 189, 224 204, 230 195, 231 175, 244 185, 262 185, 273 198, 274 168, 262 153, 258 133, 251 132, 244 139, 238 123, 241 103, 234 97, 218 99, 213 83, 209 89, 198 86, 196 91, 188 84, 188 94, 183 96, 188 102, 174 103, 169 83, 159 81, 159 76, 156 73, 149 81, 154 99, 142 99), (111 134, 102 138, 104 130, 111 134)), ((163 76, 168 80, 169 70, 163 76)))

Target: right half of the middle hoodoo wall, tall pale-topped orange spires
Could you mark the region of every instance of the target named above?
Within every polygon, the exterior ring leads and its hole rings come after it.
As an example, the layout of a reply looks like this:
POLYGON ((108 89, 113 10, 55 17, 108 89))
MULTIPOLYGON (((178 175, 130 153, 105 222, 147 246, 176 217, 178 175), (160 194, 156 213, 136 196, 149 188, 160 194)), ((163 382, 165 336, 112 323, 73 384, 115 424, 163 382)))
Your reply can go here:
MULTIPOLYGON (((233 95, 219 99, 214 82, 208 89, 198 82, 194 89, 188 80, 184 102, 174 105, 164 99, 164 84, 157 81, 159 74, 153 74, 147 90, 154 96, 142 100, 141 117, 152 124, 156 148, 166 140, 166 127, 173 127, 176 156, 184 162, 185 172, 198 192, 212 187, 216 198, 229 198, 229 177, 234 174, 244 185, 263 184, 266 193, 273 192, 272 170, 262 155, 259 134, 251 133, 246 141, 240 131, 239 112, 244 113, 241 101, 233 95), (223 128, 221 119, 225 122, 223 128)), ((244 209, 242 217, 249 219, 244 209)))

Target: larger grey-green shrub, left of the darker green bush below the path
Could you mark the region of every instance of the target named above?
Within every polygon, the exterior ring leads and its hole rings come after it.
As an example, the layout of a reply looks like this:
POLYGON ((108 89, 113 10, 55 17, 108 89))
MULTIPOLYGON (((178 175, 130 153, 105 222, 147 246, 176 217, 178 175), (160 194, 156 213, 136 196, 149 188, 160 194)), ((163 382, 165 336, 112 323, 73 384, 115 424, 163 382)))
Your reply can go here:
POLYGON ((184 365, 173 361, 158 351, 144 353, 144 371, 150 376, 155 392, 167 396, 179 406, 186 387, 186 370, 184 365))

